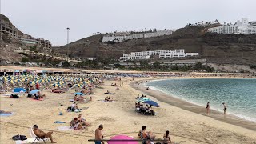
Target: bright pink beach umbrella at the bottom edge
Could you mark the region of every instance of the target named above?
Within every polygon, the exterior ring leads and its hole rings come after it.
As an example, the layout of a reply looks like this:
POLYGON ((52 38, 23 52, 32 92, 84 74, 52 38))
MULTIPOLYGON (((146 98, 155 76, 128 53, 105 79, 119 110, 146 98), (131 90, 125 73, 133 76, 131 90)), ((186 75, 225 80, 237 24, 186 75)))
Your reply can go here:
POLYGON ((127 135, 116 135, 110 138, 108 144, 138 144, 137 141, 134 141, 134 138, 129 137, 127 135), (131 141, 122 141, 122 140, 131 140, 131 141))

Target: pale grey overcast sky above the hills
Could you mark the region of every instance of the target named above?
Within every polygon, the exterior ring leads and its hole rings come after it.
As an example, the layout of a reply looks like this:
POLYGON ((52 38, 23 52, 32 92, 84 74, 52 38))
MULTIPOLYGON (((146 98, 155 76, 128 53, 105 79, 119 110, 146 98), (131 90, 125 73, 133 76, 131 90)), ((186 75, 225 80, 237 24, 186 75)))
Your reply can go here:
MULTIPOLYGON (((1 1, 1 0, 0 0, 1 1)), ((1 13, 22 32, 66 44, 95 32, 178 29, 202 21, 256 20, 255 0, 2 0, 1 13)))

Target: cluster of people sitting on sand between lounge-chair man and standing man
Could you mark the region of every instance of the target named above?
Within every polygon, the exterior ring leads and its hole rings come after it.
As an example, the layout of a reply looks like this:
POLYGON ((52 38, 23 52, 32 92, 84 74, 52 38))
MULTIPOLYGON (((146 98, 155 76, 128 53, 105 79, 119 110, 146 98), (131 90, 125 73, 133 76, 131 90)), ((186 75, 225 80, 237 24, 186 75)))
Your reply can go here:
POLYGON ((86 122, 85 118, 82 118, 82 114, 79 114, 78 118, 74 118, 70 122, 70 127, 74 130, 84 130, 85 126, 90 126, 90 123, 86 122))

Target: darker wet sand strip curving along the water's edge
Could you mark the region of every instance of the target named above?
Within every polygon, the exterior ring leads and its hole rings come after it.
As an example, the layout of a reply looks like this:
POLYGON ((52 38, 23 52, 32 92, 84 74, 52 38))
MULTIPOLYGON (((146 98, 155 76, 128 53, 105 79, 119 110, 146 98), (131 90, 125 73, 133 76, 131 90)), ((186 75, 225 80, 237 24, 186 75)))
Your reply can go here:
MULTIPOLYGON (((184 77, 184 78, 191 78, 191 77, 184 77)), ((151 81, 162 81, 162 80, 167 80, 171 78, 159 78, 159 79, 147 79, 147 82, 151 81)), ((145 80, 144 80, 145 81, 145 80)), ((140 80, 136 82, 141 82, 140 80)), ((172 96, 171 94, 166 94, 160 90, 146 90, 146 87, 144 84, 146 82, 140 83, 140 85, 136 84, 136 82, 130 83, 130 86, 134 88, 135 90, 139 90, 142 93, 156 98, 160 102, 165 102, 171 106, 175 106, 178 108, 181 108, 183 110, 188 110, 190 112, 193 112, 195 114, 201 114, 206 117, 214 118, 215 120, 221 121, 221 122, 226 122, 235 126, 241 126, 243 128, 246 128, 248 130, 254 130, 256 131, 256 122, 252 122, 249 120, 246 120, 244 118, 240 118, 236 115, 233 114, 227 114, 225 117, 223 116, 222 112, 218 110, 210 110, 210 114, 206 114, 206 108, 204 106, 199 106, 197 104, 187 102, 186 100, 183 100, 182 98, 176 98, 172 96)))

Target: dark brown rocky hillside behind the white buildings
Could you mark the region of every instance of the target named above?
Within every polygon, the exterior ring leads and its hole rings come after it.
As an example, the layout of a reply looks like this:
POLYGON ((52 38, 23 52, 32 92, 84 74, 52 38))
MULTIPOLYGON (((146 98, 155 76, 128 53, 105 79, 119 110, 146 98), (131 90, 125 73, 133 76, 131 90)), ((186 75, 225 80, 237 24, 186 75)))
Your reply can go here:
MULTIPOLYGON (((103 35, 94 35, 72 42, 69 54, 73 58, 118 58, 132 51, 185 49, 199 52, 207 62, 219 64, 255 64, 256 35, 210 34, 206 28, 186 26, 174 34, 157 38, 141 38, 112 44, 102 43, 103 35)), ((67 46, 54 50, 66 54, 67 46)))

